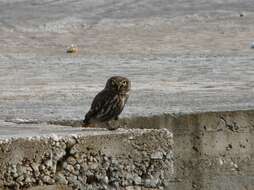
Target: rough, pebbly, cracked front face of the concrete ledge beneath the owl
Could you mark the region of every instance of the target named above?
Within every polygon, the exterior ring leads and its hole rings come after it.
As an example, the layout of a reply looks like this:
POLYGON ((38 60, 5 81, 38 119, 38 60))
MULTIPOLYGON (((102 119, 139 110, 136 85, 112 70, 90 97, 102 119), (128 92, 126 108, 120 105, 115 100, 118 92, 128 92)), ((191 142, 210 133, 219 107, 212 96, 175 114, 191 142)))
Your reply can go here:
POLYGON ((173 139, 168 130, 81 130, 2 140, 2 188, 159 188, 172 178, 173 139))

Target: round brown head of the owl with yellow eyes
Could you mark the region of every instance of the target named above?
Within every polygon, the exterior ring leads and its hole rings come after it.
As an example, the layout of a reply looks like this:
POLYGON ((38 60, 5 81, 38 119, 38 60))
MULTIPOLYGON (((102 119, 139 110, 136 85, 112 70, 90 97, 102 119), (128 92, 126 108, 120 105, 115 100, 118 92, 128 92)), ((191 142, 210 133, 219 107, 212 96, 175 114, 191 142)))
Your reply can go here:
POLYGON ((118 93, 128 93, 131 89, 131 82, 125 77, 113 76, 108 79, 105 88, 118 93))

